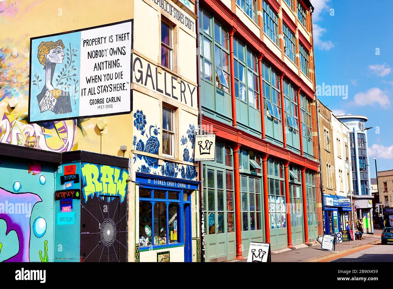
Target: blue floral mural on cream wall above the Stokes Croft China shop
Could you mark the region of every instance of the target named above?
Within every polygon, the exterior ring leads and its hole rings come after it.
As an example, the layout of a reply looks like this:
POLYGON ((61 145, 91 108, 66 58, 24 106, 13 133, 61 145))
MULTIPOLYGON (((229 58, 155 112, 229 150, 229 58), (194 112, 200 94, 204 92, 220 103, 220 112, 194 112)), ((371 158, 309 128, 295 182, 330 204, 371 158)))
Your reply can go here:
MULTIPOLYGON (((143 110, 136 110, 134 113, 134 128, 137 133, 134 134, 133 147, 137 151, 152 153, 158 156, 160 149, 160 127, 157 124, 150 124, 147 129, 147 117, 143 110)), ((182 149, 181 158, 185 162, 194 162, 194 142, 195 142, 195 125, 188 125, 185 136, 180 138, 180 149, 182 149)), ((136 166, 136 172, 151 173, 154 175, 162 175, 165 177, 196 180, 198 176, 195 166, 177 164, 164 160, 163 164, 159 164, 159 159, 152 156, 134 154, 132 157, 136 166)))

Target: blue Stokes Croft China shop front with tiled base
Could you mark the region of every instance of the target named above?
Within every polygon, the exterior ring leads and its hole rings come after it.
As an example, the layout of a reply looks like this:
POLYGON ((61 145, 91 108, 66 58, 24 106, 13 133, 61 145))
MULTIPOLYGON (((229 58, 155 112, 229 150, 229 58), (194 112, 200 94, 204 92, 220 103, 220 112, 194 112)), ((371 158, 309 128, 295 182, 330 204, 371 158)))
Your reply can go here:
POLYGON ((198 182, 136 173, 136 184, 139 260, 191 262, 198 182))

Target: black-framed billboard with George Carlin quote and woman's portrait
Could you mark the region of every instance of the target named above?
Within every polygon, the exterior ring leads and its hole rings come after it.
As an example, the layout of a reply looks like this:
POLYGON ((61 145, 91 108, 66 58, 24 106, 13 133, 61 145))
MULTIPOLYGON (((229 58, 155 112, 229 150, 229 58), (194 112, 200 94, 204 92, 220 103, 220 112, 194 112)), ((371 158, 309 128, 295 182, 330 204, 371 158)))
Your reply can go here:
POLYGON ((132 26, 31 38, 29 121, 130 113, 132 26))

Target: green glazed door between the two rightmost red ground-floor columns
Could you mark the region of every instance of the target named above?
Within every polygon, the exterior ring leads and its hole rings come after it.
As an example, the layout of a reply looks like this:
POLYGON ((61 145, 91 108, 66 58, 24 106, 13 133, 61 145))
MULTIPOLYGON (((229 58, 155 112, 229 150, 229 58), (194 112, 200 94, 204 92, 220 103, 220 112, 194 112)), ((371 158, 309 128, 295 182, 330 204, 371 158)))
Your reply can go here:
POLYGON ((292 245, 303 244, 303 206, 300 186, 289 184, 292 245))

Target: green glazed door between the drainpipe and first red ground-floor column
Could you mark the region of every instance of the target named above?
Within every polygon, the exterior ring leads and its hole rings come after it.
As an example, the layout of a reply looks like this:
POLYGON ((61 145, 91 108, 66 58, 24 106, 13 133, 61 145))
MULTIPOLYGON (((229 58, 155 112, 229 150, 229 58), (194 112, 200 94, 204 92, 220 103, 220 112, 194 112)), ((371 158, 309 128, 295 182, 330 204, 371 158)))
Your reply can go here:
POLYGON ((221 168, 204 168, 204 218, 206 261, 236 258, 233 173, 221 168))

